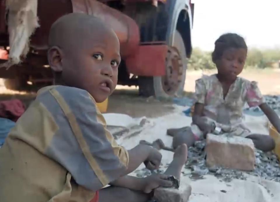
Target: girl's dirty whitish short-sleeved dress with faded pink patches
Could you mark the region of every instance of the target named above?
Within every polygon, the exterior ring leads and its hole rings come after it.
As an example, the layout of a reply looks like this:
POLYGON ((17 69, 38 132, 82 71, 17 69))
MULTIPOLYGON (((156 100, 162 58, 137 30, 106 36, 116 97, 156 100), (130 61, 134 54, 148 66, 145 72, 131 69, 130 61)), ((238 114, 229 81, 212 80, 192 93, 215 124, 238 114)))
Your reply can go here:
MULTIPOLYGON (((251 131, 242 123, 243 107, 248 103, 250 107, 265 103, 257 82, 251 82, 237 77, 230 86, 224 98, 222 84, 217 75, 206 76, 196 80, 196 103, 204 104, 203 116, 209 122, 215 122, 222 132, 246 137, 251 131)), ((192 132, 201 138, 202 131, 192 125, 192 132)))

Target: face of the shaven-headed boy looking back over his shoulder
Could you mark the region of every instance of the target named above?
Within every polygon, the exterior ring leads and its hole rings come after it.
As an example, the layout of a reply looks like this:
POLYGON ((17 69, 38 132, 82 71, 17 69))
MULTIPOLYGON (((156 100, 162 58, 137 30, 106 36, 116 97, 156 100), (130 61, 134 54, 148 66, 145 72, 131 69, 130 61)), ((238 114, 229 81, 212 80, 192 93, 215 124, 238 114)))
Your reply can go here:
POLYGON ((93 30, 71 50, 62 49, 62 80, 67 86, 88 91, 103 102, 114 91, 121 62, 120 45, 113 31, 93 30), (99 33, 98 33, 99 32, 99 33))

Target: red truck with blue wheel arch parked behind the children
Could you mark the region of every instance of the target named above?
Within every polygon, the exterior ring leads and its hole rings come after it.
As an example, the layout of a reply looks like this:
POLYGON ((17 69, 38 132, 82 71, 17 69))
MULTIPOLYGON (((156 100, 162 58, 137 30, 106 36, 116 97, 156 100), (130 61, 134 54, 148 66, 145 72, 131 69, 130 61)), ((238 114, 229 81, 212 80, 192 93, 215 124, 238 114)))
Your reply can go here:
POLYGON ((72 12, 94 15, 116 32, 120 85, 139 86, 143 96, 183 92, 192 52, 190 0, 0 0, 0 63, 11 66, 0 68, 0 77, 7 88, 51 84, 48 32, 55 20, 72 12))

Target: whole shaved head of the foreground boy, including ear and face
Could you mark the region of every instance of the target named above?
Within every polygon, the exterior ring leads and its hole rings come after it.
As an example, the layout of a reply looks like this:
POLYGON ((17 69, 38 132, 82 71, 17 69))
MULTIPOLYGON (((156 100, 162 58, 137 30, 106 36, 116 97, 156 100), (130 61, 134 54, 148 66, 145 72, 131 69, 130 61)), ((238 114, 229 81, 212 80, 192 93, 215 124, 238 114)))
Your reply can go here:
POLYGON ((51 27, 48 45, 56 84, 84 89, 97 102, 113 92, 121 60, 119 39, 98 18, 81 13, 62 16, 51 27))

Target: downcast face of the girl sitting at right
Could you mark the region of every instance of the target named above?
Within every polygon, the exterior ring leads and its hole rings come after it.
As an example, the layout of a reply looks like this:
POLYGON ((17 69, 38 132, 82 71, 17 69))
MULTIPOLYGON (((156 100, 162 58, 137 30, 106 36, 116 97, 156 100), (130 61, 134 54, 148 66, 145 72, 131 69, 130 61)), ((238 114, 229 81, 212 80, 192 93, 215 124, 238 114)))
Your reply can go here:
POLYGON ((244 68, 246 56, 247 50, 244 48, 226 49, 215 62, 218 74, 229 81, 235 81, 244 68))

